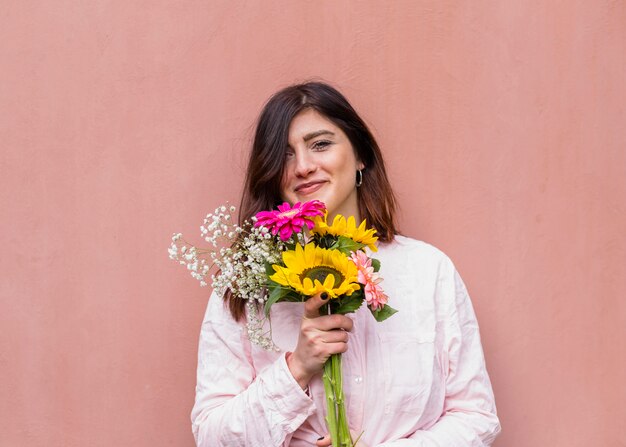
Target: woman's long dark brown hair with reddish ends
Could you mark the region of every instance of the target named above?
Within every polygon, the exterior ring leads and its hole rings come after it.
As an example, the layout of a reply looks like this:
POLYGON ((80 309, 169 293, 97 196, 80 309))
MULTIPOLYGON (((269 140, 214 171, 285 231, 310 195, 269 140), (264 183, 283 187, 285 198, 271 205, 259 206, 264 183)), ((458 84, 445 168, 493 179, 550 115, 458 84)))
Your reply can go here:
MULTIPOLYGON (((365 165, 363 183, 357 189, 359 213, 367 219, 368 225, 376 228, 380 241, 392 241, 397 234, 396 200, 378 143, 348 100, 337 89, 322 82, 286 87, 276 92, 263 107, 248 161, 239 222, 283 202, 280 183, 289 145, 289 126, 296 115, 307 109, 314 109, 332 121, 350 140, 365 165)), ((236 299, 230 291, 224 299, 233 318, 241 320, 245 315, 244 300, 236 299)))

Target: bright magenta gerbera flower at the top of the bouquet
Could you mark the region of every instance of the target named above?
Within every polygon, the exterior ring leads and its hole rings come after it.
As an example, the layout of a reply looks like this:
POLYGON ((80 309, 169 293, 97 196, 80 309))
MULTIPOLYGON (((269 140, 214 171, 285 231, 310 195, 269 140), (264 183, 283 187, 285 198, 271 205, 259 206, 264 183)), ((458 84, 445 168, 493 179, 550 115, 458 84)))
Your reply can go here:
POLYGON ((293 233, 302 231, 306 225, 309 230, 313 228, 313 217, 323 216, 326 210, 319 200, 305 203, 296 203, 291 207, 287 202, 278 205, 278 211, 261 211, 257 213, 255 227, 265 227, 272 234, 280 234, 280 239, 286 241, 293 233))

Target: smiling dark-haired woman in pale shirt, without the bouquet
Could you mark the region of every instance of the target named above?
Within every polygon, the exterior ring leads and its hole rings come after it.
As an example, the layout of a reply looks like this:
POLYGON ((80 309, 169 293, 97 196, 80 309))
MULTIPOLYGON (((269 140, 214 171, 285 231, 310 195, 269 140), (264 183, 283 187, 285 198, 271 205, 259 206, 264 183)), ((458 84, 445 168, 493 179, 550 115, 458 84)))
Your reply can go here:
POLYGON ((279 352, 250 344, 245 303, 212 296, 202 325, 192 425, 199 446, 327 446, 320 372, 343 353, 359 446, 488 446, 500 431, 478 325, 439 250, 397 234, 380 149, 347 100, 323 83, 277 92, 257 125, 241 220, 283 201, 323 201, 378 230, 381 275, 398 313, 365 306, 320 316, 317 295, 272 307, 279 352))

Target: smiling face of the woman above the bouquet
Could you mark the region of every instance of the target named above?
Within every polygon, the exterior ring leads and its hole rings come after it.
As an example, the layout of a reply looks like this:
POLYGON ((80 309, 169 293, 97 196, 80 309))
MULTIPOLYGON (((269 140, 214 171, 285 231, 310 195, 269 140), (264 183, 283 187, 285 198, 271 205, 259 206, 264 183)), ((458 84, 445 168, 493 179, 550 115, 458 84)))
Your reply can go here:
POLYGON ((360 221, 356 171, 363 169, 346 134, 313 109, 300 112, 289 126, 289 147, 281 182, 283 200, 321 200, 328 217, 360 221))

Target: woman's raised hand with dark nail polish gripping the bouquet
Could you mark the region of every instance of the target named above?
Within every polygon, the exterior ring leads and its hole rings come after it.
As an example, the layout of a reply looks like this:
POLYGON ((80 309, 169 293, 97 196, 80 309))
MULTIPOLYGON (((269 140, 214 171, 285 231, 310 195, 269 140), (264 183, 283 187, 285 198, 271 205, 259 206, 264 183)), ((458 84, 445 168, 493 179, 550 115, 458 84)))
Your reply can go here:
POLYGON ((320 316, 319 309, 328 304, 321 294, 304 302, 304 315, 300 323, 298 344, 287 357, 289 371, 298 384, 305 389, 311 378, 322 371, 324 363, 332 354, 346 352, 348 332, 352 320, 345 315, 320 316))

